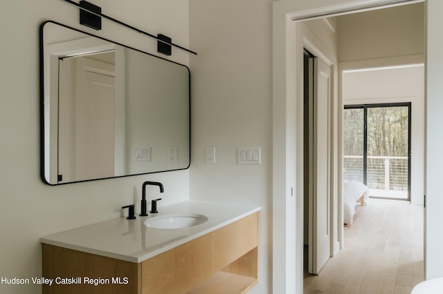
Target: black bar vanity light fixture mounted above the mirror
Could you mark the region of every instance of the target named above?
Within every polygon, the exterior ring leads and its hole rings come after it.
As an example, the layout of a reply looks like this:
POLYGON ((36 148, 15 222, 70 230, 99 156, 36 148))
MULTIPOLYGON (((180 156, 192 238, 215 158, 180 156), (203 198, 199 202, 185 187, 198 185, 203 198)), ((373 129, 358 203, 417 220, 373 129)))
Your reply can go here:
POLYGON ((96 6, 92 3, 89 3, 88 1, 80 1, 80 3, 76 3, 72 0, 63 0, 66 1, 69 4, 72 4, 74 6, 77 6, 80 8, 80 24, 84 26, 88 26, 89 28, 93 28, 95 30, 101 30, 102 29, 102 17, 105 19, 108 19, 110 21, 114 21, 115 23, 118 23, 122 26, 125 26, 126 28, 130 28, 131 30, 135 30, 136 32, 139 32, 143 35, 147 35, 148 37, 152 37, 157 40, 157 51, 159 53, 162 53, 164 55, 171 55, 172 52, 172 46, 179 48, 181 50, 185 50, 187 52, 190 52, 194 55, 197 55, 197 52, 189 50, 187 48, 184 48, 182 46, 179 46, 177 44, 172 43, 172 39, 170 37, 167 37, 165 35, 159 34, 157 36, 150 34, 149 32, 145 32, 143 30, 140 30, 138 28, 135 28, 134 26, 130 26, 127 23, 124 23, 123 21, 119 21, 118 19, 114 19, 113 17, 109 17, 106 14, 102 14, 102 8, 100 6, 96 6))

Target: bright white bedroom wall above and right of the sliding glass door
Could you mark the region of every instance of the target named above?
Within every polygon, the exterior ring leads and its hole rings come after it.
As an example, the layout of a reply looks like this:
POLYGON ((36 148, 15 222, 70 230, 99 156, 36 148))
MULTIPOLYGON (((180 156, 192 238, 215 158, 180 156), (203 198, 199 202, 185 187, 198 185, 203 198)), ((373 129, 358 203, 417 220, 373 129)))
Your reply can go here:
POLYGON ((345 72, 343 104, 411 102, 411 203, 424 195, 424 66, 345 72))

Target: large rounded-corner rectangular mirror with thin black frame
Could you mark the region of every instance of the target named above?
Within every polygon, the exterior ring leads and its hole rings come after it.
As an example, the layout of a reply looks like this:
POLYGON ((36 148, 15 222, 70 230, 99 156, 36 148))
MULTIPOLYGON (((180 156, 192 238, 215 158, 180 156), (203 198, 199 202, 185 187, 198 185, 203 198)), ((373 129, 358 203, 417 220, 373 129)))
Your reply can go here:
POLYGON ((189 167, 187 66, 46 21, 40 75, 46 184, 189 167))

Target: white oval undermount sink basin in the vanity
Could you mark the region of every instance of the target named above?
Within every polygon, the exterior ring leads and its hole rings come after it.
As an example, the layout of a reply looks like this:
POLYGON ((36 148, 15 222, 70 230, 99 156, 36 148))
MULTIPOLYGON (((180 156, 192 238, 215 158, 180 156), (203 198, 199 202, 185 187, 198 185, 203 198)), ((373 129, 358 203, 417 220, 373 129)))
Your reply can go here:
POLYGON ((197 226, 203 224, 208 220, 205 215, 197 215, 194 213, 174 215, 159 215, 158 217, 151 217, 145 221, 145 226, 150 228, 189 228, 190 226, 197 226))

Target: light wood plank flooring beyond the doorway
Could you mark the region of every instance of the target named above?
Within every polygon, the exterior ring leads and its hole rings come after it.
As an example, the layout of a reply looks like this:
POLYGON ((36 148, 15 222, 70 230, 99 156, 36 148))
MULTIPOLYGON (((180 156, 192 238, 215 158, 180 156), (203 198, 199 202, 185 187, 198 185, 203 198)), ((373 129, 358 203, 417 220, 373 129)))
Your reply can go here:
POLYGON ((424 280, 423 219, 423 206, 408 202, 356 206, 343 249, 318 275, 305 273, 304 293, 410 293, 424 280))

